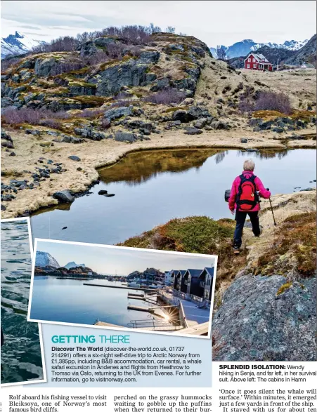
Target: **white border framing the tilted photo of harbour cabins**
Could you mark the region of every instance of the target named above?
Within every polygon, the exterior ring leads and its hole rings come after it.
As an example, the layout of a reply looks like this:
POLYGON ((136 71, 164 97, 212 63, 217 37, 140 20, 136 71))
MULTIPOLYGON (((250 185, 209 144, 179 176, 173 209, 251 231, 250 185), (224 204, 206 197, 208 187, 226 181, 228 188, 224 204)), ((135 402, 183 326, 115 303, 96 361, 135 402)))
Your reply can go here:
POLYGON ((183 252, 173 252, 173 251, 160 251, 157 249, 146 249, 146 248, 129 248, 126 246, 113 246, 113 245, 103 245, 103 244, 91 244, 91 243, 84 243, 84 242, 77 242, 77 241, 62 241, 62 240, 53 240, 53 239, 39 239, 36 238, 34 239, 34 256, 33 256, 33 265, 32 265, 32 278, 31 278, 31 287, 30 287, 30 298, 29 298, 29 308, 28 308, 28 313, 27 313, 27 320, 30 322, 37 322, 37 323, 42 323, 42 324, 55 324, 55 325, 67 325, 67 326, 81 326, 84 328, 98 328, 98 329, 110 329, 110 330, 119 330, 119 331, 129 331, 130 333, 154 333, 155 335, 169 335, 171 337, 186 337, 186 338, 200 338, 200 339, 210 339, 211 338, 211 330, 212 330, 212 312, 213 312, 213 307, 214 307, 214 288, 216 285, 216 270, 217 270, 217 263, 218 263, 218 256, 217 255, 205 255, 203 253, 183 253, 183 252), (48 242, 48 243, 57 243, 57 244, 73 244, 73 245, 80 245, 80 246, 95 246, 98 248, 115 248, 115 249, 126 249, 129 251, 144 251, 148 253, 169 253, 169 254, 174 254, 174 255, 179 255, 179 258, 181 258, 181 255, 190 255, 195 257, 203 257, 203 258, 214 258, 214 280, 212 282, 212 298, 210 300, 210 312, 209 312, 209 325, 208 325, 208 334, 207 335, 187 335, 186 333, 179 333, 177 332, 160 332, 160 331, 142 331, 141 328, 127 328, 124 326, 117 326, 115 327, 110 327, 110 326, 98 326, 98 325, 86 325, 86 324, 73 324, 73 323, 67 323, 67 322, 60 322, 60 321, 45 321, 43 319, 31 319, 30 314, 31 314, 31 307, 32 307, 32 293, 33 293, 33 283, 34 283, 34 269, 35 269, 35 256, 37 253, 37 242, 48 242))

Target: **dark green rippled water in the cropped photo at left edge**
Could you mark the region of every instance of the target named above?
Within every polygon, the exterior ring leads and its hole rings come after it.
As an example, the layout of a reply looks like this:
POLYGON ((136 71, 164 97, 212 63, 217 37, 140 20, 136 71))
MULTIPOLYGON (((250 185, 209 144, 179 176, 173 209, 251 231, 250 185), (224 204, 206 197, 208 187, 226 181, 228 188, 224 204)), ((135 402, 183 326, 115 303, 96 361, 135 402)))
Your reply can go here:
POLYGON ((1 383, 43 378, 39 328, 27 322, 30 279, 27 222, 1 222, 1 383))

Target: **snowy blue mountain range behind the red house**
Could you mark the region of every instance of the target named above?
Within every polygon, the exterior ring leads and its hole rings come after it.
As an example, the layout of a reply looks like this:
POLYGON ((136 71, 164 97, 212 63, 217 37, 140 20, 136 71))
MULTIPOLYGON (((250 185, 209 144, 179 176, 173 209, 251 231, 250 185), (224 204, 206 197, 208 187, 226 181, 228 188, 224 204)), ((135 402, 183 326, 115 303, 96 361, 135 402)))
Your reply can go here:
MULTIPOLYGON (((276 43, 256 43, 252 39, 245 39, 241 41, 237 41, 236 43, 232 44, 231 46, 217 46, 217 48, 221 48, 223 51, 226 52, 226 58, 231 59, 231 58, 237 58, 240 56, 245 56, 248 55, 252 51, 257 51, 259 48, 262 48, 264 46, 270 47, 270 48, 285 48, 290 51, 297 51, 299 48, 302 48, 305 46, 305 44, 308 42, 308 40, 304 41, 296 41, 296 40, 287 40, 284 41, 283 44, 276 44, 276 43)), ((211 47, 210 51, 212 52, 212 55, 216 58, 216 48, 211 47)))

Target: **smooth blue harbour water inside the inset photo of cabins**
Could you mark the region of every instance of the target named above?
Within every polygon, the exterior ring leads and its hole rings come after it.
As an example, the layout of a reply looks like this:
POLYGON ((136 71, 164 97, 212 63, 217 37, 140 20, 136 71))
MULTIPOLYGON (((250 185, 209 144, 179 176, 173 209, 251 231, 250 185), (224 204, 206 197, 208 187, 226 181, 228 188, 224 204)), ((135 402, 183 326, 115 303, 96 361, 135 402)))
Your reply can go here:
MULTIPOLYGON (((58 279, 34 277, 31 319, 93 325, 104 321, 119 326, 129 326, 132 320, 153 318, 148 312, 127 310, 127 304, 153 306, 143 300, 127 298, 128 290, 84 286, 84 283, 121 286, 119 282, 91 279, 58 279)), ((130 291, 137 293, 135 291, 130 291)), ((162 311, 157 312, 162 314, 162 311)))

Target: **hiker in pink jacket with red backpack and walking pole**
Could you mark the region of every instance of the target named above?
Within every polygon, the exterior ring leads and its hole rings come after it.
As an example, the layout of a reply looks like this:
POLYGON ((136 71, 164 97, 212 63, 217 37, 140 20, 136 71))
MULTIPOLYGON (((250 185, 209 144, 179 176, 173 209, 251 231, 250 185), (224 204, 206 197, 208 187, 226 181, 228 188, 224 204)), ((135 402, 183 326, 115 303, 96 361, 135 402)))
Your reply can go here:
POLYGON ((254 175, 254 166, 253 160, 246 160, 243 164, 242 174, 235 178, 231 187, 229 209, 232 214, 235 212, 233 249, 236 254, 240 252, 242 231, 247 215, 250 217, 254 236, 259 237, 261 234, 258 216, 259 197, 264 197, 264 199, 271 197, 271 192, 266 190, 261 180, 254 175))

